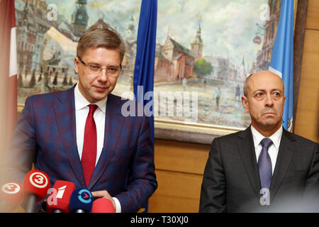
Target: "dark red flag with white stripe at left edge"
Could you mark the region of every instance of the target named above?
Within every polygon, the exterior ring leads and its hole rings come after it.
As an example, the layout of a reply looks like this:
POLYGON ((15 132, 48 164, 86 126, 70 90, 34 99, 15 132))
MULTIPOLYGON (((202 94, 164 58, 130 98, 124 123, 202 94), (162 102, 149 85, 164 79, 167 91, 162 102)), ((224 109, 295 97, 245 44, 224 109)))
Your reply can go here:
MULTIPOLYGON (((14 0, 0 1, 0 77, 1 89, 6 90, 4 108, 7 116, 6 128, 10 137, 17 113, 17 57, 16 57, 16 14, 14 0)), ((4 106, 1 106, 4 107, 4 106)))

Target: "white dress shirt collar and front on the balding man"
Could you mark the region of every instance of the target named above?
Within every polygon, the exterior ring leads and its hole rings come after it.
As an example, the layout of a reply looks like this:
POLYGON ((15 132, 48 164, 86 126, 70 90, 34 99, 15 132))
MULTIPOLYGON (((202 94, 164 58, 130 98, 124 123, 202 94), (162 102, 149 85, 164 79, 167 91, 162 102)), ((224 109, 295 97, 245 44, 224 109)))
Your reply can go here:
MULTIPOLYGON (((262 152, 262 145, 260 144, 260 141, 262 141, 264 135, 260 134, 259 131, 256 130, 253 126, 250 127, 252 129, 252 138, 254 140, 254 150, 256 152, 256 158, 258 163, 258 157, 260 153, 262 152)), ((270 160, 272 160, 272 175, 274 175, 274 168, 276 166, 276 160, 279 152, 279 145, 282 135, 282 126, 276 131, 276 133, 272 134, 269 139, 272 140, 272 145, 268 148, 268 153, 270 156, 270 160)))

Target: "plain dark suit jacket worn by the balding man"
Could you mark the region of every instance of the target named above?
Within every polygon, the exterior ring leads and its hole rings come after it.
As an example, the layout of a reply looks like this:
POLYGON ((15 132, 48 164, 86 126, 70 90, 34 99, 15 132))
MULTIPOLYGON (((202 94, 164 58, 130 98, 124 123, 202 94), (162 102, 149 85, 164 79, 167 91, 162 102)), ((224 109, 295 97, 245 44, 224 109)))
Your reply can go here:
POLYGON ((250 127, 214 139, 203 174, 200 212, 319 211, 318 143, 284 130, 269 206, 261 205, 260 190, 250 127))

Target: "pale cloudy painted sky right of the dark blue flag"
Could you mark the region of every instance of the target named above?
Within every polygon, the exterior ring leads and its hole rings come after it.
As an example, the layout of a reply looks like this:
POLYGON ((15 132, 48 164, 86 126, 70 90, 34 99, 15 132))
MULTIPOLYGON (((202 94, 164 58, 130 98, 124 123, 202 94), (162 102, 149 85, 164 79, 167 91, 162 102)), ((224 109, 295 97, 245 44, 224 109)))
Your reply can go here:
POLYGON ((169 33, 190 48, 201 20, 204 56, 229 57, 240 65, 245 55, 245 62, 251 67, 257 50, 262 48, 252 43, 252 39, 257 33, 256 23, 264 25, 260 19, 264 10, 260 6, 265 3, 268 1, 159 0, 157 40, 164 40, 169 33))

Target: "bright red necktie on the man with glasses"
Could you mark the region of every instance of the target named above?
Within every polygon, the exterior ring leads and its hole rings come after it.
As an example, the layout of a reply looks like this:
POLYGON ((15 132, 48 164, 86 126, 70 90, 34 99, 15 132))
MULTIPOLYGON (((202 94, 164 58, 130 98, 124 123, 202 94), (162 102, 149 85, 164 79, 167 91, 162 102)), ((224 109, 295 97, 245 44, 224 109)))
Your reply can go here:
POLYGON ((96 125, 93 114, 97 107, 98 106, 95 104, 89 104, 89 114, 87 115, 84 129, 84 143, 81 164, 84 172, 86 187, 89 186, 96 162, 96 125))

